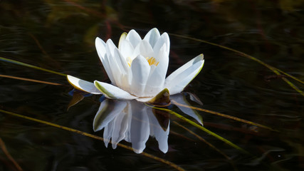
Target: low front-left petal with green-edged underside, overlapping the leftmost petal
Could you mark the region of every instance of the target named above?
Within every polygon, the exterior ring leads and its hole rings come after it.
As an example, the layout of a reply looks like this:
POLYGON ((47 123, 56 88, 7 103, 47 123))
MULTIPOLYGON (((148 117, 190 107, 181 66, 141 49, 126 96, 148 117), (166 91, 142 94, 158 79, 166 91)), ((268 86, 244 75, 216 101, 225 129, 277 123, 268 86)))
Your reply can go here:
POLYGON ((94 84, 98 90, 100 90, 105 97, 119 100, 132 100, 137 98, 134 95, 130 95, 127 91, 117 88, 116 86, 112 86, 108 83, 103 83, 100 81, 94 81, 94 84))

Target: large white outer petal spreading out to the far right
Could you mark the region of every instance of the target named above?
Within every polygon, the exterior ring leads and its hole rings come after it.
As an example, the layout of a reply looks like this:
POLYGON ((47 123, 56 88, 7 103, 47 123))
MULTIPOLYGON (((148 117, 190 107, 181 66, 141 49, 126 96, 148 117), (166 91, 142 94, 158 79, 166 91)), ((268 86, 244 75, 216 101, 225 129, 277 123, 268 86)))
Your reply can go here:
POLYGON ((201 54, 168 76, 164 88, 168 88, 171 95, 181 92, 199 74, 203 66, 204 56, 201 54))

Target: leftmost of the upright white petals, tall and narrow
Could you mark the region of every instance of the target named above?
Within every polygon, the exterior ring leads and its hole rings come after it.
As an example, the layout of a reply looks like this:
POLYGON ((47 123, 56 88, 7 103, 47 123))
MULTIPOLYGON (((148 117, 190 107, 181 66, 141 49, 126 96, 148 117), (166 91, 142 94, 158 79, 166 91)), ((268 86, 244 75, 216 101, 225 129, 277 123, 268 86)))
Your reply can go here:
POLYGON ((103 67, 105 68, 105 72, 108 74, 108 77, 110 78, 110 81, 116 85, 115 79, 112 74, 112 70, 110 67, 110 63, 106 54, 105 49, 105 42, 101 40, 100 38, 95 39, 95 46, 98 53, 98 56, 100 58, 101 63, 103 63, 103 67))

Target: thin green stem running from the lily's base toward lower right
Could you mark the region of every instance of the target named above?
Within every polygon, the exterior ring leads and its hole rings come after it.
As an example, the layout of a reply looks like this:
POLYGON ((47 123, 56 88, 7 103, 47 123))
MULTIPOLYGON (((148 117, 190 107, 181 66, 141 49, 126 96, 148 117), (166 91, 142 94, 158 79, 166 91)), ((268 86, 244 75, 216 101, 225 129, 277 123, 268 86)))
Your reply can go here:
MULTIPOLYGON (((147 105, 147 104, 146 104, 147 105)), ((203 130, 204 132, 208 133, 209 135, 212 135, 214 136, 215 138, 225 142, 227 145, 230 145, 231 147, 234 147, 236 148, 237 150, 240 150, 244 153, 247 153, 248 152, 246 150, 243 150, 243 148, 239 147, 238 145, 235 145, 233 142, 229 141, 229 140, 226 140, 225 138, 222 138, 220 135, 217 135, 216 133, 213 133, 211 130, 208 130, 204 127, 202 127, 201 125, 197 124, 197 123, 194 123, 192 120, 189 120, 187 118, 185 118, 184 116, 182 115, 179 115, 178 113, 172 111, 172 110, 169 110, 169 109, 166 109, 166 108, 157 108, 157 107, 154 107, 154 106, 151 106, 151 105, 147 105, 149 106, 150 108, 154 108, 154 109, 157 109, 157 110, 163 110, 163 111, 166 111, 167 113, 170 113, 174 116, 176 116, 177 118, 180 118, 182 120, 185 120, 187 123, 191 124, 191 125, 194 125, 196 128, 199 128, 200 130, 203 130)))

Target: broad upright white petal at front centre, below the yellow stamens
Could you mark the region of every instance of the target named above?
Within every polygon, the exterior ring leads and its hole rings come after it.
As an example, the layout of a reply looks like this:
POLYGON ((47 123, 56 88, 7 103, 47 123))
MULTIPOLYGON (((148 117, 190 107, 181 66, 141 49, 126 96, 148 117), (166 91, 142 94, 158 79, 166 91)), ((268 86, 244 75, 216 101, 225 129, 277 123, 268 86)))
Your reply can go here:
POLYGON ((132 83, 130 90, 132 94, 142 97, 145 95, 144 90, 150 73, 150 65, 143 56, 137 56, 131 64, 131 71, 132 83))

